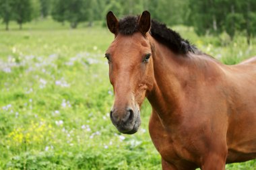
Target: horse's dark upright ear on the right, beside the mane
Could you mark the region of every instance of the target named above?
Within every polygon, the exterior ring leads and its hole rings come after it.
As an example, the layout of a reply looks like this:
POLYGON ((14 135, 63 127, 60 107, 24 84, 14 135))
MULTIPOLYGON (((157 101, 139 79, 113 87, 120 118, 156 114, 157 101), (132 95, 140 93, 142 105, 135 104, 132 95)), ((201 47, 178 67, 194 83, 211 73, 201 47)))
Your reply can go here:
POLYGON ((143 13, 139 17, 139 32, 141 32, 142 34, 146 34, 150 30, 150 25, 150 12, 143 11, 143 13))

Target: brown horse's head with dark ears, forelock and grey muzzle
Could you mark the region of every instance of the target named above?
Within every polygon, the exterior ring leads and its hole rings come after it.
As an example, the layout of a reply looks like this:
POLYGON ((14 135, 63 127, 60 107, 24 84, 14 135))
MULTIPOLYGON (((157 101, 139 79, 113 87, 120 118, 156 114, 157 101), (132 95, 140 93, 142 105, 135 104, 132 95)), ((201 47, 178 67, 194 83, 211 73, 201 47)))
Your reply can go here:
POLYGON ((106 50, 115 94, 110 119, 119 132, 133 134, 141 124, 139 108, 154 85, 150 13, 143 11, 137 23, 127 24, 109 11, 106 22, 115 34, 115 40, 106 50))

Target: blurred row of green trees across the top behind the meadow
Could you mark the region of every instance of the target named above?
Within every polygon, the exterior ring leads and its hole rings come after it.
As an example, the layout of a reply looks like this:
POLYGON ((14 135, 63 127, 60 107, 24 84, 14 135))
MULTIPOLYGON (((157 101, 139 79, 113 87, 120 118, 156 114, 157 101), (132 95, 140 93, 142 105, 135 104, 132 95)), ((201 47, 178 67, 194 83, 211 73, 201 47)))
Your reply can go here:
POLYGON ((82 22, 94 26, 96 21, 104 26, 107 11, 115 11, 122 17, 148 10, 152 18, 168 26, 193 26, 198 35, 226 32, 232 39, 236 33, 243 33, 249 43, 256 34, 254 0, 1 0, 0 5, 5 30, 11 21, 22 29, 26 22, 40 22, 49 17, 62 24, 68 22, 71 28, 82 22))

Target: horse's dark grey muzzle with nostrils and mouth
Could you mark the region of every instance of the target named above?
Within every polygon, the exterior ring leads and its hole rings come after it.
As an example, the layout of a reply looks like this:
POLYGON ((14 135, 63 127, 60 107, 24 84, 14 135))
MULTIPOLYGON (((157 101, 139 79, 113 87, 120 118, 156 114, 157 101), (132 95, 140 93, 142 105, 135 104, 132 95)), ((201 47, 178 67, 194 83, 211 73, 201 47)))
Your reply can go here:
POLYGON ((129 107, 125 109, 113 108, 110 111, 110 120, 123 134, 134 134, 141 124, 139 109, 133 110, 129 107))

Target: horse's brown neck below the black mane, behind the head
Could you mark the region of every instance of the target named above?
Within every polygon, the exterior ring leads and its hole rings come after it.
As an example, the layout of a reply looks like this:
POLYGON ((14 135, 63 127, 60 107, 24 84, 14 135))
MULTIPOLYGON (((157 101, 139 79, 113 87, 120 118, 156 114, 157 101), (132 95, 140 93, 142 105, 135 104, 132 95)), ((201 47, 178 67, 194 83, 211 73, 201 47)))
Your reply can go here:
POLYGON ((187 93, 198 89, 209 75, 218 75, 220 68, 208 56, 193 56, 195 54, 191 53, 182 56, 153 38, 151 42, 154 46, 154 87, 148 93, 148 100, 162 120, 179 123, 187 93))

